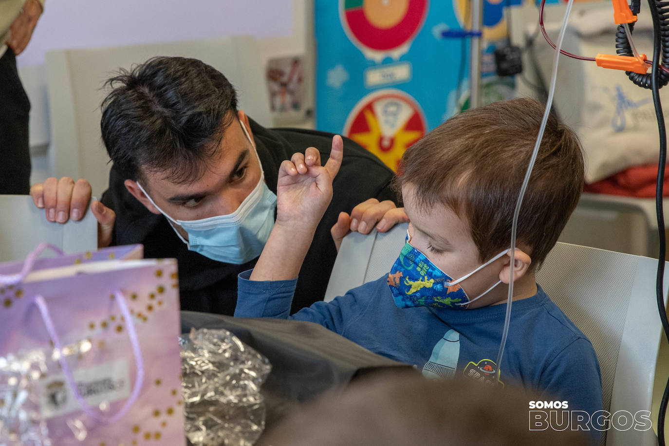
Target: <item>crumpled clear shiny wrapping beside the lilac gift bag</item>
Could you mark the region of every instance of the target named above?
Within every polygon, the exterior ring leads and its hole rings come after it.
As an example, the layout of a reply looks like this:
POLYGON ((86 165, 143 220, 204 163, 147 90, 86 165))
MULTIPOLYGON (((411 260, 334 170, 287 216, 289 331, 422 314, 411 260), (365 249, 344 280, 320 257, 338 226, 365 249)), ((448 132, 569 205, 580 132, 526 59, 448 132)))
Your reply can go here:
POLYGON ((182 336, 186 436, 195 446, 253 445, 265 427, 260 386, 272 366, 227 330, 182 336))

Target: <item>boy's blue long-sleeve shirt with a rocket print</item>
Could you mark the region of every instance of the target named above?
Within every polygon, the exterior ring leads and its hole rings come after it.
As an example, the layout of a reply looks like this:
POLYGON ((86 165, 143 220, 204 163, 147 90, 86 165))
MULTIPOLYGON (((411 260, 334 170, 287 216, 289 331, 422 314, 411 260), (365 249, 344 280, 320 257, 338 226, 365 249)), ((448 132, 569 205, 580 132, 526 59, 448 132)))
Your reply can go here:
MULTIPOLYGON (((248 280, 250 273, 238 277, 235 316, 316 322, 377 354, 415 365, 425 376, 464 374, 508 382, 538 392, 545 401, 567 401, 570 411, 592 415, 602 409, 599 362, 592 344, 539 286, 535 296, 513 302, 497 376, 494 361, 505 304, 474 310, 399 309, 381 277, 290 316, 296 280, 255 282, 248 280)), ((588 427, 593 443, 599 441, 599 432, 588 427)))

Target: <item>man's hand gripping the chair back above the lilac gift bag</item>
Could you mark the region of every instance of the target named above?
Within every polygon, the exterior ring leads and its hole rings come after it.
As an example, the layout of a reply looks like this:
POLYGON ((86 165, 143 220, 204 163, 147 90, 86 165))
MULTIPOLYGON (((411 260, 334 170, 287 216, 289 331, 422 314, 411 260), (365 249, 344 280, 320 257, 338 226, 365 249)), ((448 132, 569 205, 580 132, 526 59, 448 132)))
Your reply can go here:
MULTIPOLYGON (((35 183, 30 188, 30 196, 33 197, 35 206, 44 209, 46 219, 55 223, 84 218, 91 195, 88 181, 78 180, 75 183, 70 177, 60 180, 47 178, 44 183, 35 183)), ((116 213, 100 201, 90 203, 90 209, 98 220, 98 247, 107 247, 112 242, 116 213)))

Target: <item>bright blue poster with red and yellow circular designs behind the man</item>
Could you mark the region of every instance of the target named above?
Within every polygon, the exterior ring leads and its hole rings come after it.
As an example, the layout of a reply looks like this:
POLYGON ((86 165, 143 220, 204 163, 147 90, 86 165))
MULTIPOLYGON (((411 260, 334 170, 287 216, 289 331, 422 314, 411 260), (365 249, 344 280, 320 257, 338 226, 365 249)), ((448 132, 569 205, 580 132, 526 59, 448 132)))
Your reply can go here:
MULTIPOLYGON (((506 37, 503 8, 520 1, 484 0, 485 77, 496 78, 489 62, 506 37)), ((397 169, 408 146, 466 107, 468 39, 442 31, 470 21, 470 1, 315 0, 314 12, 319 130, 341 132, 397 169)), ((497 83, 512 94, 511 80, 497 83)), ((499 88, 484 87, 484 100, 499 88)))

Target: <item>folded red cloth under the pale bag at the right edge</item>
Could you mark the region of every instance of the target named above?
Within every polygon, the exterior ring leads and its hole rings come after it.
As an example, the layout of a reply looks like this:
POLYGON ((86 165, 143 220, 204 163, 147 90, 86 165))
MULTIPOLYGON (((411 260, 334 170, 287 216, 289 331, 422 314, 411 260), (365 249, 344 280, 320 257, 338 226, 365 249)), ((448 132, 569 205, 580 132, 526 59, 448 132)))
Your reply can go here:
MULTIPOLYGON (((655 197, 656 181, 658 177, 657 164, 644 164, 620 171, 601 181, 585 185, 583 191, 605 193, 611 195, 626 195, 628 197, 652 198, 655 197)), ((664 182, 669 179, 669 169, 664 170, 664 182)), ((664 197, 669 197, 669 187, 664 187, 664 197)))

